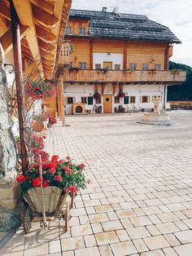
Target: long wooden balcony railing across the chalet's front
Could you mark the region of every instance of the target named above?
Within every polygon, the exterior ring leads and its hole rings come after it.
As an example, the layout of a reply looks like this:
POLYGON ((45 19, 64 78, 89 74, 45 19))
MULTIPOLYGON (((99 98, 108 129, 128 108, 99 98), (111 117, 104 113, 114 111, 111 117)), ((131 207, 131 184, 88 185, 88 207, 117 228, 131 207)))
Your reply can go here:
POLYGON ((166 83, 179 84, 185 82, 186 72, 180 70, 169 71, 125 71, 109 70, 65 70, 64 82, 122 82, 124 84, 135 83, 166 83))

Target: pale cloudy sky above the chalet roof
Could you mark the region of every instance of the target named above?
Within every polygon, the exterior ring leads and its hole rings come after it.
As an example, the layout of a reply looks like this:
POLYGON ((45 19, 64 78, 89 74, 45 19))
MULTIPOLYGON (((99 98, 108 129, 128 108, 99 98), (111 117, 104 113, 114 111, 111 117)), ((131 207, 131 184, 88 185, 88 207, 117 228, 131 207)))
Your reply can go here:
POLYGON ((192 0, 72 0, 73 9, 112 11, 146 15, 168 26, 182 44, 174 44, 171 60, 192 67, 192 0))

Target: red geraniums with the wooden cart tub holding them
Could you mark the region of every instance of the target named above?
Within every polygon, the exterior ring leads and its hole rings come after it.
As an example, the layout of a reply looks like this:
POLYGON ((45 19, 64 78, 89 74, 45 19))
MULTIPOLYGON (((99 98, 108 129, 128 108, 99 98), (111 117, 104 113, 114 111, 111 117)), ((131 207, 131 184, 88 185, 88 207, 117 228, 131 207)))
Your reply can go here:
POLYGON ((86 188, 83 170, 85 165, 72 163, 70 157, 59 160, 59 156, 51 157, 50 161, 42 163, 42 178, 39 171, 39 164, 29 166, 28 171, 16 178, 20 183, 20 190, 26 201, 32 202, 37 213, 41 213, 41 183, 44 188, 46 213, 54 213, 57 209, 55 202, 59 201, 62 193, 75 193, 81 188, 86 188), (28 199, 29 197, 29 199, 28 199), (52 200, 54 197, 54 201, 52 200))

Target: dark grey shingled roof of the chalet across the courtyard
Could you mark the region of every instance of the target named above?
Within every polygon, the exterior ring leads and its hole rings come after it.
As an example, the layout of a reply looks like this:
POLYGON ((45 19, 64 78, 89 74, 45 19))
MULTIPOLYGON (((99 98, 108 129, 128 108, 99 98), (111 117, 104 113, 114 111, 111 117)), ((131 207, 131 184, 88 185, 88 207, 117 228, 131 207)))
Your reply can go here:
POLYGON ((71 10, 69 19, 89 20, 89 34, 66 33, 65 37, 181 43, 168 27, 149 20, 146 15, 71 10))

